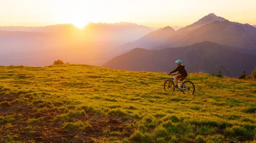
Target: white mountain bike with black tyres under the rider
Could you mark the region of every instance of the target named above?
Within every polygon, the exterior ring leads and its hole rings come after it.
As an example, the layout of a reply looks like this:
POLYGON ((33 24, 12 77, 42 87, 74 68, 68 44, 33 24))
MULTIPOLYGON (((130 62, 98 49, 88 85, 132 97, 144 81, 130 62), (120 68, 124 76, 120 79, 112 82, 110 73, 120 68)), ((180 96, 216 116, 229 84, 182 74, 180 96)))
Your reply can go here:
MULTIPOLYGON (((172 91, 174 92, 175 90, 175 75, 178 74, 171 74, 172 77, 170 79, 167 79, 164 84, 163 84, 163 89, 164 91, 172 91)), ((183 92, 183 94, 192 94, 194 95, 195 93, 195 85, 193 84, 192 81, 178 81, 180 83, 180 86, 177 88, 183 92)))

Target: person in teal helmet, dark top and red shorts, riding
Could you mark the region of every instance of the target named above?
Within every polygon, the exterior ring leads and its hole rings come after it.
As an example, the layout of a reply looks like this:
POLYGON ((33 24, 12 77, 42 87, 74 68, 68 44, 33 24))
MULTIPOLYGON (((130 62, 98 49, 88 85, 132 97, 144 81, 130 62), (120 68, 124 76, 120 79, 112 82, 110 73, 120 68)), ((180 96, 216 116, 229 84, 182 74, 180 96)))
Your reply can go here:
POLYGON ((178 71, 178 73, 180 73, 180 75, 176 76, 176 78, 175 78, 176 85, 174 86, 175 88, 179 88, 178 87, 178 78, 180 79, 180 81, 183 81, 188 76, 188 73, 185 70, 185 66, 181 64, 182 61, 180 59, 175 61, 175 63, 177 63, 178 67, 175 70, 172 70, 168 75, 175 73, 177 71, 178 71))

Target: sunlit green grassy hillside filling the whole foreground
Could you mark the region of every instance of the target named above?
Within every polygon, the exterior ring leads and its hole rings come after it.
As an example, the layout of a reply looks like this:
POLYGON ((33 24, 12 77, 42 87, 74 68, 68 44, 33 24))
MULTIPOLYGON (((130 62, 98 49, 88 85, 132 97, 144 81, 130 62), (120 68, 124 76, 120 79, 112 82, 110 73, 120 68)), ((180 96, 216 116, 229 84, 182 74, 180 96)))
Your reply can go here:
POLYGON ((89 65, 0 67, 0 142, 256 142, 256 82, 89 65))

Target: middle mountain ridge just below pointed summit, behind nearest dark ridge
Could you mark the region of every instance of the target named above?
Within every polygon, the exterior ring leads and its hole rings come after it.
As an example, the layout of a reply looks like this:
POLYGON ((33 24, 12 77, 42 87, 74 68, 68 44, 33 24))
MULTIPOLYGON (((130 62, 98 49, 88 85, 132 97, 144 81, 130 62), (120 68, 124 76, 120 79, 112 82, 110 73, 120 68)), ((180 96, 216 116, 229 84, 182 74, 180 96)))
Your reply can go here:
POLYGON ((231 47, 256 48, 256 28, 249 24, 215 21, 182 35, 175 35, 160 47, 182 47, 196 42, 210 41, 231 47))

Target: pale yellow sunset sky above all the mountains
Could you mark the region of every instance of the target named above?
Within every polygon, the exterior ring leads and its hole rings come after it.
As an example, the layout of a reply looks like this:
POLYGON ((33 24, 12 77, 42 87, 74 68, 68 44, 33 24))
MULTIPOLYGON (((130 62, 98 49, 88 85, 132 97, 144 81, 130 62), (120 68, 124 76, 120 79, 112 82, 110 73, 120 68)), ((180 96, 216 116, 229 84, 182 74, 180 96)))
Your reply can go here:
POLYGON ((0 0, 0 26, 120 21, 186 26, 209 13, 256 25, 256 0, 0 0))

